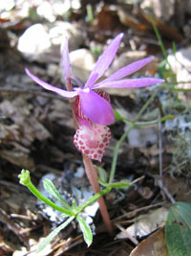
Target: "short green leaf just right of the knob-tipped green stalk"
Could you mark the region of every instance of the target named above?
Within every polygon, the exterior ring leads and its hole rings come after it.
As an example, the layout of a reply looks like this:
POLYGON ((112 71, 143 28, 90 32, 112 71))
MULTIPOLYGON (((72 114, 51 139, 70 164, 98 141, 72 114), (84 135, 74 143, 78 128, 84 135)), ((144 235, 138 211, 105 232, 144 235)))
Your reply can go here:
POLYGON ((72 210, 71 206, 62 198, 62 196, 59 194, 57 189, 54 187, 53 182, 46 178, 43 180, 43 185, 46 191, 56 200, 58 200, 64 207, 68 208, 69 210, 72 210))

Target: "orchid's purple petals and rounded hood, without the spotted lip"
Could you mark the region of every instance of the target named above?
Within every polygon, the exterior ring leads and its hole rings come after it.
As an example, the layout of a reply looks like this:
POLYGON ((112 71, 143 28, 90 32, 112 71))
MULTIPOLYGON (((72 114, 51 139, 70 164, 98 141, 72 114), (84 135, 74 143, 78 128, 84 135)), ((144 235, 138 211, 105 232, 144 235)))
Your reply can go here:
MULTIPOLYGON (((119 34, 112 41, 112 43, 106 48, 103 54, 97 59, 96 65, 90 74, 88 81, 86 81, 83 88, 74 88, 74 91, 66 91, 60 88, 56 88, 53 85, 42 81, 32 75, 32 73, 26 69, 28 76, 32 78, 33 81, 41 85, 47 90, 51 90, 62 97, 74 98, 79 95, 81 99, 81 108, 83 113, 94 123, 108 126, 114 122, 114 111, 112 106, 102 97, 97 95, 94 90, 100 88, 124 88, 124 87, 145 87, 162 82, 161 79, 154 78, 140 78, 140 79, 124 79, 120 80, 128 75, 131 75, 138 71, 150 61, 153 57, 143 58, 136 62, 133 62, 121 69, 117 70, 109 78, 96 83, 96 81, 102 77, 107 70, 107 68, 112 63, 113 59, 117 54, 117 49, 120 44, 123 34, 119 34)), ((71 80, 71 63, 69 58, 68 50, 68 39, 65 37, 65 46, 63 50, 63 71, 65 76, 65 81, 71 80)))

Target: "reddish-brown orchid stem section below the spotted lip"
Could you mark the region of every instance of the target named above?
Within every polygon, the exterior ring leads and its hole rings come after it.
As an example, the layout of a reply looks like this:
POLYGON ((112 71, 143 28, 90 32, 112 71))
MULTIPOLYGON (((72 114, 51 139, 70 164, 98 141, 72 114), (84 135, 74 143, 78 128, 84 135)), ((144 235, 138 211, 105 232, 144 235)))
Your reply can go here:
MULTIPOLYGON (((97 177, 93 162, 84 154, 83 154, 83 162, 86 170, 86 175, 88 176, 88 179, 93 187, 95 194, 97 194, 100 192, 100 187, 99 187, 98 177, 97 177)), ((112 235, 113 227, 110 221, 110 216, 108 214, 108 210, 107 210, 104 198, 103 197, 97 198, 97 201, 98 201, 99 210, 100 210, 102 219, 106 225, 107 231, 109 232, 110 235, 112 235)))

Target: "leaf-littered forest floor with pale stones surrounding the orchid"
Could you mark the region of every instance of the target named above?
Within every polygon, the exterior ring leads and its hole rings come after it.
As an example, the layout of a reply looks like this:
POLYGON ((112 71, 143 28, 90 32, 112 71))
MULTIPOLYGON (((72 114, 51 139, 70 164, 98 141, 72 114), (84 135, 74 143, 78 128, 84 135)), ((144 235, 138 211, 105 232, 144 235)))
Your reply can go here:
POLYGON ((0 12, 0 255, 37 255, 38 244, 62 222, 60 215, 19 184, 22 169, 31 172, 32 183, 42 193, 42 178, 49 177, 69 202, 93 196, 83 175, 81 154, 74 147, 68 100, 40 88, 26 75, 25 67, 44 81, 64 86, 60 47, 67 33, 74 73, 85 81, 97 56, 121 32, 121 46, 106 76, 130 62, 155 56, 136 78, 151 76, 166 82, 149 88, 108 90, 114 109, 124 119, 118 118, 110 126, 111 144, 102 162, 94 164, 109 175, 115 146, 129 128, 125 118, 134 120, 153 96, 138 119, 150 122, 149 126, 132 128, 117 153, 115 181, 139 178, 138 182, 105 196, 113 237, 106 232, 97 210, 91 217, 94 241, 90 247, 74 221, 40 255, 140 255, 138 250, 133 252, 138 245, 144 255, 168 255, 164 223, 170 205, 191 202, 190 13, 181 13, 183 19, 178 21, 180 9, 169 11, 165 13, 169 19, 163 20, 153 9, 168 50, 165 56, 151 18, 139 4, 20 2, 12 1, 0 12), (151 254, 156 243, 159 247, 151 254))

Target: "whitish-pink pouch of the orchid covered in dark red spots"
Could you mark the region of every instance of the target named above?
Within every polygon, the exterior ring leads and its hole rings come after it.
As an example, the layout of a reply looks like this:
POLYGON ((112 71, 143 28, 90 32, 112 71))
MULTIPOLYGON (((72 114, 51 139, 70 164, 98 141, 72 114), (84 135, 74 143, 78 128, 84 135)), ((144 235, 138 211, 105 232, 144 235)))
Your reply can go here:
POLYGON ((101 161, 111 139, 110 128, 93 124, 80 126, 74 134, 75 147, 90 159, 101 161))

